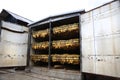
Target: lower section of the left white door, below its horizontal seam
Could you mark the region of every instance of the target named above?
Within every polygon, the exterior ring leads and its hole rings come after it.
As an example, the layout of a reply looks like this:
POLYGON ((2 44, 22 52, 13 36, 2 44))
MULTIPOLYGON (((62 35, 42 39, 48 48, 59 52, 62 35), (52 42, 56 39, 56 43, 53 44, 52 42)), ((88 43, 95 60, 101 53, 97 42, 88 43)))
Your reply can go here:
MULTIPOLYGON (((0 67, 26 66, 27 45, 1 42, 3 50, 0 53, 0 67)), ((1 45, 0 45, 1 46, 1 45)))

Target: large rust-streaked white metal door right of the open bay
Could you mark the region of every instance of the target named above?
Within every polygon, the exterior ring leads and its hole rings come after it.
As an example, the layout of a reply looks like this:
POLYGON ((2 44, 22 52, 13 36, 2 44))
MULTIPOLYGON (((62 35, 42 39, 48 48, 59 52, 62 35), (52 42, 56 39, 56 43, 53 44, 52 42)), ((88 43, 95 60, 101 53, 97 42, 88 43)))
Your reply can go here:
POLYGON ((83 72, 120 77, 119 21, 119 1, 81 15, 83 72))

